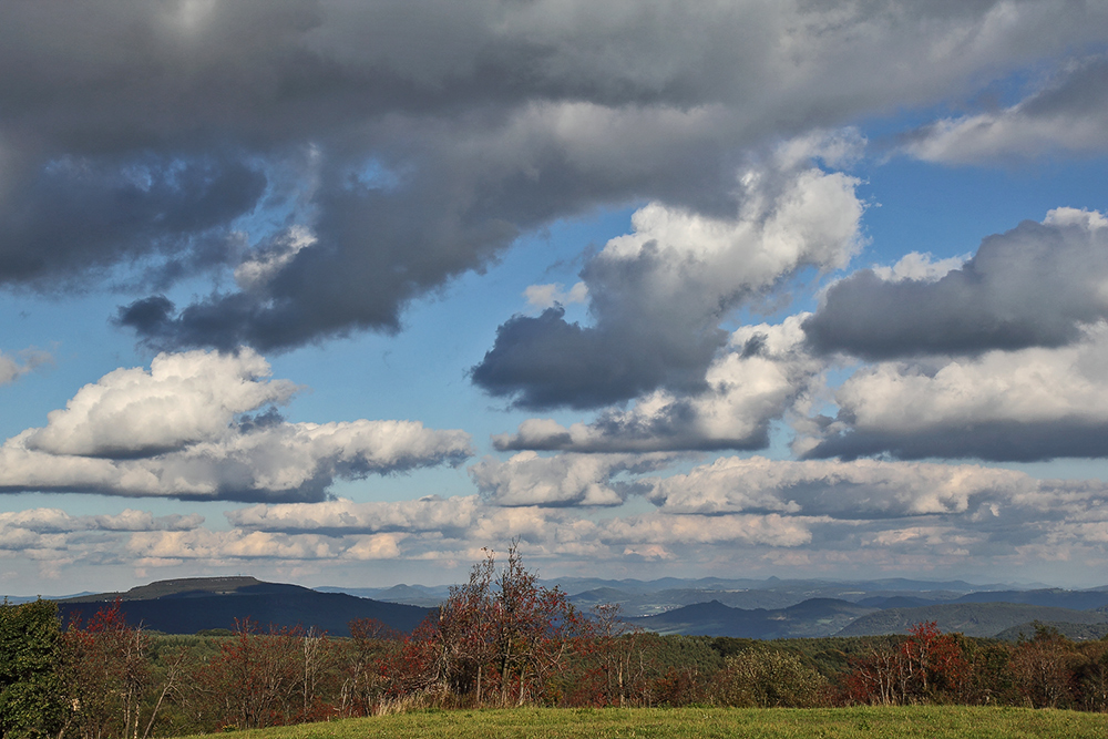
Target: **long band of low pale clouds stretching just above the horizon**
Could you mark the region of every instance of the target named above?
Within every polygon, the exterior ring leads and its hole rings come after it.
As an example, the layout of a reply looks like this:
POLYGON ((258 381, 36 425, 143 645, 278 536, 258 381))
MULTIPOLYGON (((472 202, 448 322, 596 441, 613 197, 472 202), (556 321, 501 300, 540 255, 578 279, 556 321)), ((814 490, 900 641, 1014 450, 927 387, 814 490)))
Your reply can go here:
MULTIPOLYGON (((577 480, 605 485, 627 461, 577 466, 577 480)), ((558 562, 562 569, 634 572, 637 562, 667 572, 681 563, 726 574, 740 557, 750 575, 802 565, 842 576, 938 572, 966 557, 988 573, 1044 557, 1095 560, 1108 548, 1108 487, 1099 481, 1039 481, 979 465, 733 456, 684 473, 659 471, 630 471, 653 510, 587 517, 575 510, 596 510, 587 496, 568 505, 480 495, 260 504, 229 511, 229 530, 205 527, 196 516, 39 509, 0 516, 0 557, 23 556, 44 572, 61 558, 145 573, 342 572, 367 561, 437 563, 461 573, 481 558, 481 547, 519 537, 529 562, 558 562)), ((534 476, 520 464, 492 472, 502 473, 501 482, 534 476)))

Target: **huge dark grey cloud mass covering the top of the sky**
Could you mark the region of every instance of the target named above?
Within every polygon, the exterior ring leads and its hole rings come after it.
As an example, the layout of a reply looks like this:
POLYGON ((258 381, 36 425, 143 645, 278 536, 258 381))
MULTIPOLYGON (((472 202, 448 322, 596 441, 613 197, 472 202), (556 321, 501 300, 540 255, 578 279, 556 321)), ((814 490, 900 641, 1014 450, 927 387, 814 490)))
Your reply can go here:
POLYGON ((0 284, 55 290, 83 273, 95 287, 91 268, 137 268, 123 284, 165 290, 300 224, 316 240, 265 280, 138 302, 122 322, 175 347, 392 331, 409 300, 519 233, 644 199, 719 215, 743 147, 970 91, 1100 39, 1105 13, 1063 0, 9 3, 0 284), (965 43, 936 60, 951 34, 965 43), (263 225, 275 214, 287 218, 263 225))

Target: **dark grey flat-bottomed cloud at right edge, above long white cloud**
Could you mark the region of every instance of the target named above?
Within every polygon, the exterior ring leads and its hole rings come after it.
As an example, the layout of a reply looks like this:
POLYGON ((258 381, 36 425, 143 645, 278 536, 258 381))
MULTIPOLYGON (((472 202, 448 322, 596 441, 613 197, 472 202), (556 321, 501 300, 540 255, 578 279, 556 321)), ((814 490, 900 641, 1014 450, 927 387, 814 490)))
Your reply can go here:
POLYGON ((1108 318, 1106 283, 1108 219, 1057 208, 989 236, 938 279, 854 273, 828 289, 804 331, 818 352, 870 360, 1061 347, 1108 318))

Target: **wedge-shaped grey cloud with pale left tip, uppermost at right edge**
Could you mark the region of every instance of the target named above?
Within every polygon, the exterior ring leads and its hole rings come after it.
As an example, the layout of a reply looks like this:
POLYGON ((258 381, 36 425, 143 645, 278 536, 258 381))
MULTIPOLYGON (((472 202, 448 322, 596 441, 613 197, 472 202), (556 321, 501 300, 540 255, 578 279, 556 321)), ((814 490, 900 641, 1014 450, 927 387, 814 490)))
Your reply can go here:
POLYGON ((903 151, 950 164, 1108 151, 1108 59, 1071 64, 1012 107, 944 119, 915 132, 903 151))

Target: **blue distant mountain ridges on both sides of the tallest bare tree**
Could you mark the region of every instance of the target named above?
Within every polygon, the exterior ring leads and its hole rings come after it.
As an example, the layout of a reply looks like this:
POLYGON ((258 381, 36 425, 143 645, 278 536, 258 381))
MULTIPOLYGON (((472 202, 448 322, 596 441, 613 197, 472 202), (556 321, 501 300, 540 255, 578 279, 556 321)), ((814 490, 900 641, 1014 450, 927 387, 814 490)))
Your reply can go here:
MULTIPOLYGON (((904 578, 540 582, 562 588, 585 612, 617 604, 629 623, 664 634, 757 639, 903 634, 910 626, 929 620, 944 632, 968 636, 1017 638, 1020 633, 1034 633, 1032 622, 1057 624, 1075 638, 1108 633, 1108 586, 1018 589, 904 578)), ((353 618, 377 618, 397 630, 410 632, 434 613, 449 592, 448 585, 311 589, 235 576, 157 581, 125 592, 54 599, 66 620, 88 620, 99 608, 119 599, 131 623, 171 634, 234 628, 236 618, 250 617, 263 630, 270 624, 301 625, 345 636, 353 618)))

